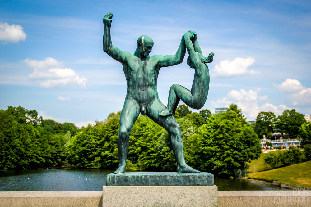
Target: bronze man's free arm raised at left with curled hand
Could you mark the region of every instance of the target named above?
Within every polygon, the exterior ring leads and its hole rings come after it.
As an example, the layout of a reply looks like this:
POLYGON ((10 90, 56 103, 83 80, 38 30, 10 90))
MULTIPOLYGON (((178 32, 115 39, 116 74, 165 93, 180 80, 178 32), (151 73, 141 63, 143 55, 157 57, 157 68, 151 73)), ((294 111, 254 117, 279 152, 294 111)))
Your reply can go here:
POLYGON ((113 14, 107 13, 104 18, 104 37, 103 37, 103 50, 113 59, 123 63, 125 61, 124 52, 118 47, 114 47, 111 42, 110 28, 113 14))

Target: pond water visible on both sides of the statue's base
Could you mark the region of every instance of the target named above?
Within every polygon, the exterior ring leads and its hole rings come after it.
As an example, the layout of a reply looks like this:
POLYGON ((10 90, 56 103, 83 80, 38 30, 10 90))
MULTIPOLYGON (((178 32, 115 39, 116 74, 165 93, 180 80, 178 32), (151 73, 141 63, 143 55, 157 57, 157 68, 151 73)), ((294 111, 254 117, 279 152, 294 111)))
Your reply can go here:
MULTIPOLYGON (((102 191, 114 170, 59 169, 0 171, 0 191, 102 191)), ((219 191, 287 190, 247 179, 215 178, 219 191)))

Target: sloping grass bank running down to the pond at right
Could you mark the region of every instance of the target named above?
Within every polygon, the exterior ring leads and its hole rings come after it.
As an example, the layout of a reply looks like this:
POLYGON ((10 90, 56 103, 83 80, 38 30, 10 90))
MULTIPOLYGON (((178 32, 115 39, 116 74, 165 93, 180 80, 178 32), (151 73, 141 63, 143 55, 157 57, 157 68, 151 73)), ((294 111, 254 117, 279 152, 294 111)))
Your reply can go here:
POLYGON ((302 162, 273 170, 249 173, 248 178, 265 180, 267 182, 272 182, 275 180, 277 182, 280 182, 280 184, 286 183, 289 185, 311 188, 311 161, 302 162))

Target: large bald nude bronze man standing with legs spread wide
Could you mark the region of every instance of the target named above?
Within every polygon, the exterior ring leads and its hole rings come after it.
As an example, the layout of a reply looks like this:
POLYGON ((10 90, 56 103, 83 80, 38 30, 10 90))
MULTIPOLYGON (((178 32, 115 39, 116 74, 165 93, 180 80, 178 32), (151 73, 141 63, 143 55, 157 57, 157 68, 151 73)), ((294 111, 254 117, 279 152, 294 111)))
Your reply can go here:
MULTIPOLYGON (((127 82, 127 94, 120 115, 120 129, 118 135, 119 166, 114 173, 124 173, 126 157, 128 155, 129 136, 134 122, 141 113, 146 114, 154 122, 165 128, 170 137, 171 147, 177 161, 177 172, 199 173, 200 171, 189 167, 183 154, 183 141, 180 127, 174 116, 158 116, 165 110, 157 91, 157 78, 161 67, 177 65, 183 61, 186 53, 185 41, 182 38, 175 55, 149 56, 153 47, 153 40, 142 35, 137 40, 137 48, 132 55, 121 51, 111 43, 110 27, 112 13, 107 13, 104 18, 103 50, 116 61, 123 65, 123 71, 127 82)), ((194 35, 192 35, 194 38, 194 35)))

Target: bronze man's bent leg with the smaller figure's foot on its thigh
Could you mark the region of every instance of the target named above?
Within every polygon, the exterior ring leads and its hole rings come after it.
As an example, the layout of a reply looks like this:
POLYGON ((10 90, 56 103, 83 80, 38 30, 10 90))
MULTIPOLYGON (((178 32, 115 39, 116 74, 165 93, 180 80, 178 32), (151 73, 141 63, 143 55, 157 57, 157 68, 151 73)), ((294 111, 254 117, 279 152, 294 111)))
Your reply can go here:
POLYGON ((181 173, 200 173, 200 171, 189 167, 186 164, 183 155, 183 140, 181 138, 180 127, 174 116, 159 116, 158 113, 163 111, 165 106, 159 99, 156 99, 151 106, 147 107, 146 115, 154 122, 162 126, 169 133, 171 147, 177 161, 177 172, 181 173))

